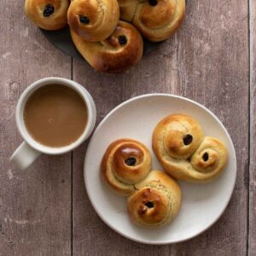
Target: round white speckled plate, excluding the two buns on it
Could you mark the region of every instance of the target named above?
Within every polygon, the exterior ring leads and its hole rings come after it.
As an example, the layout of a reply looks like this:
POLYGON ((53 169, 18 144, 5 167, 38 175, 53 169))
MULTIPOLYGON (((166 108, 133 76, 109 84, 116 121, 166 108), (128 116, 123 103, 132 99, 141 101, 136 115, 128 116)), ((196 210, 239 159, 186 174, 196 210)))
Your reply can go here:
POLYGON ((207 108, 181 96, 137 96, 114 108, 102 120, 90 140, 84 160, 84 182, 91 204, 113 230, 133 241, 167 244, 188 240, 214 224, 227 207, 236 182, 236 152, 228 131, 207 108), (159 228, 143 228, 131 222, 125 197, 115 195, 100 177, 100 163, 108 145, 119 138, 133 138, 148 146, 153 169, 160 169, 151 148, 154 126, 170 113, 186 113, 197 119, 206 136, 222 140, 229 151, 224 172, 212 183, 179 182, 183 203, 177 218, 159 228))

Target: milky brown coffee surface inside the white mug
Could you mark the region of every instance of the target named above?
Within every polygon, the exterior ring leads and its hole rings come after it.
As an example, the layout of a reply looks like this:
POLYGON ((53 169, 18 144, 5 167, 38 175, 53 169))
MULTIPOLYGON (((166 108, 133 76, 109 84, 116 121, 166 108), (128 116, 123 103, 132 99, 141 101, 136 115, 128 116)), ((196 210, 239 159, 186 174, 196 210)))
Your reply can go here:
POLYGON ((29 97, 24 121, 34 140, 59 148, 82 135, 87 123, 87 108, 75 90, 61 84, 49 84, 29 97))

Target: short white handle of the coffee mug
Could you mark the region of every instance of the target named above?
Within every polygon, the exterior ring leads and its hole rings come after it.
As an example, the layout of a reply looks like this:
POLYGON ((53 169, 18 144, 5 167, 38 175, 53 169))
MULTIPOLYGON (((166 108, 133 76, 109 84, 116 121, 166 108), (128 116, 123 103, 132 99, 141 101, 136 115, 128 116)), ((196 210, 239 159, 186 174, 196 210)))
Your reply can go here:
POLYGON ((20 144, 20 147, 15 150, 10 161, 19 167, 20 170, 26 170, 38 158, 41 153, 29 146, 26 142, 20 144))

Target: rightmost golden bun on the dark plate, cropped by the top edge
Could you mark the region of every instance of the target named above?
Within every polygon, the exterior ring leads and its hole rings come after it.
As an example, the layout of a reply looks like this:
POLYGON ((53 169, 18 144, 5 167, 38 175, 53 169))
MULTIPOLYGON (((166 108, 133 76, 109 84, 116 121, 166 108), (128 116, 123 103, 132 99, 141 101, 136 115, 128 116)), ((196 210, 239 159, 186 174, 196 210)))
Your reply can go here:
POLYGON ((120 19, 131 22, 150 41, 170 38, 181 26, 185 0, 118 0, 120 19))

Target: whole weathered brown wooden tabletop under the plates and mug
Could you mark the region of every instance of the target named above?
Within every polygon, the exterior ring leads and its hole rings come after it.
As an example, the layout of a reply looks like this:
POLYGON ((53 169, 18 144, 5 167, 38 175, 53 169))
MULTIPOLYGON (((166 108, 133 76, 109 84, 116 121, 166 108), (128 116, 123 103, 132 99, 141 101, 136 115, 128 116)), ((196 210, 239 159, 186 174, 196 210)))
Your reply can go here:
POLYGON ((187 3, 175 36, 124 74, 95 73, 55 49, 26 19, 24 1, 0 7, 0 255, 256 255, 256 2, 187 3), (15 105, 37 79, 83 84, 97 124, 119 103, 145 93, 186 96, 212 110, 236 147, 237 180, 210 230, 175 245, 148 246, 119 236, 97 217, 84 189, 86 143, 41 156, 26 172, 10 165, 21 143, 15 105))

